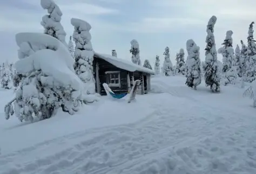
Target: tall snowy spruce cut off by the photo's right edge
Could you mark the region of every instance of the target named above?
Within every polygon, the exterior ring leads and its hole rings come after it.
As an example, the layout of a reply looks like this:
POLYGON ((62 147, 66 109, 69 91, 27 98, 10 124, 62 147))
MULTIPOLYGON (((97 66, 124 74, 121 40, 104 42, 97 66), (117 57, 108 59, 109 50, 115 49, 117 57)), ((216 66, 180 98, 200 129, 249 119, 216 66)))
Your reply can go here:
POLYGON ((247 43, 248 43, 248 62, 247 62, 247 71, 246 71, 246 81, 252 82, 256 78, 256 45, 255 40, 253 39, 253 24, 252 22, 249 26, 247 43))

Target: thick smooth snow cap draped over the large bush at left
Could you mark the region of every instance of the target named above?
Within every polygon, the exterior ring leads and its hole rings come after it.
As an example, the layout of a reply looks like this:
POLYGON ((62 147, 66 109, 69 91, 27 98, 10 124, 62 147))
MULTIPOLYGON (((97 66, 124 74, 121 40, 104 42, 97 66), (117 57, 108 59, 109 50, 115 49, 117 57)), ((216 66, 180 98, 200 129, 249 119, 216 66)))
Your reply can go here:
POLYGON ((43 73, 52 76, 63 86, 71 85, 75 90, 81 88, 82 82, 73 69, 74 61, 68 49, 59 40, 48 34, 18 33, 16 34, 16 42, 18 46, 21 46, 19 52, 27 52, 28 47, 23 50, 22 45, 30 45, 35 52, 26 59, 19 57, 21 59, 15 63, 17 73, 25 74, 32 70, 42 70, 43 73))

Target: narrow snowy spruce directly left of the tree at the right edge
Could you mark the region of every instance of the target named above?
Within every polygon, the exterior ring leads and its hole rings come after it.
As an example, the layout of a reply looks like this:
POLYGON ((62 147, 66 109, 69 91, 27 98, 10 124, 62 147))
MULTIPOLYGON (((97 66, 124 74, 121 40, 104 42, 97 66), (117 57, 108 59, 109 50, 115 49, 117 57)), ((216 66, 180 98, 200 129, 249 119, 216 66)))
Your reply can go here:
POLYGON ((246 71, 248 69, 247 67, 247 57, 248 57, 248 48, 245 46, 244 42, 241 40, 241 59, 240 59, 240 64, 241 64, 241 74, 242 74, 242 78, 241 78, 241 88, 245 87, 244 82, 246 81, 247 78, 247 74, 246 71))

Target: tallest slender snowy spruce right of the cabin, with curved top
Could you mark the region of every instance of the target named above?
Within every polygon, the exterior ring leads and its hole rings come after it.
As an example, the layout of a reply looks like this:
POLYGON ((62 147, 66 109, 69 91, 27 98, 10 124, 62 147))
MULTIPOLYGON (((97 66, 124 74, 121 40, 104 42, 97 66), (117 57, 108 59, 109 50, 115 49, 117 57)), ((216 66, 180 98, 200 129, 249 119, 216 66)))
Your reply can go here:
POLYGON ((205 48, 205 84, 211 87, 212 92, 220 92, 220 71, 217 62, 217 50, 214 39, 214 25, 217 21, 215 16, 212 16, 208 21, 206 28, 206 48, 205 48))

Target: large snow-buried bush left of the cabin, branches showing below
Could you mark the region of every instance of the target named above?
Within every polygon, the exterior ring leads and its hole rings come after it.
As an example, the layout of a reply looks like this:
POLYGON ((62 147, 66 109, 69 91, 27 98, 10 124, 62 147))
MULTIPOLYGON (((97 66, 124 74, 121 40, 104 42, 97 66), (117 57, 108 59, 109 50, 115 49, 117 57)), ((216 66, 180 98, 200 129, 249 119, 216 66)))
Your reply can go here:
POLYGON ((18 33, 15 63, 16 97, 5 106, 5 117, 15 114, 20 121, 47 119, 61 107, 70 114, 83 100, 82 82, 73 69, 68 49, 56 38, 41 33, 18 33), (15 108, 12 108, 14 103, 15 108))

